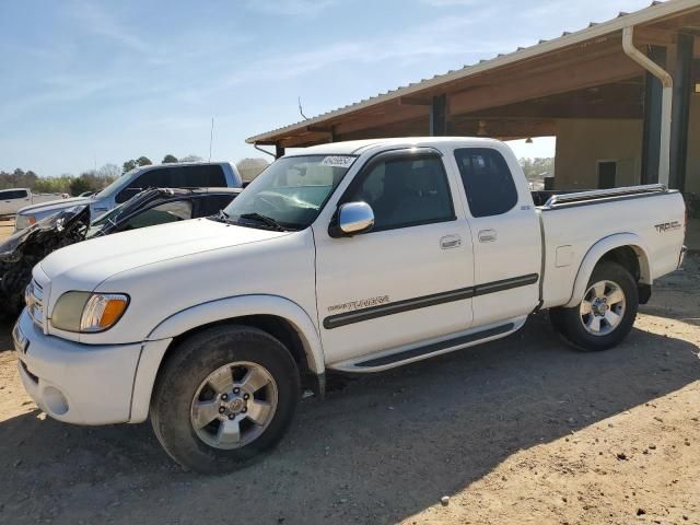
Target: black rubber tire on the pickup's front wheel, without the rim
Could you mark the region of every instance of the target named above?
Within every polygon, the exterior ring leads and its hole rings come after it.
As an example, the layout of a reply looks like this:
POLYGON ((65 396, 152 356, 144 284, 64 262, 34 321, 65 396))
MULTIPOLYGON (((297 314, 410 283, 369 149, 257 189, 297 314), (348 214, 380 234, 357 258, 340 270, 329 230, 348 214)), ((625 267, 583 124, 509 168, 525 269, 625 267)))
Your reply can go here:
MULTIPOLYGON (((230 373, 235 370, 229 368, 230 373)), ((252 463, 277 445, 292 420, 300 392, 296 363, 279 340, 257 328, 219 326, 183 341, 165 362, 151 397, 151 423, 163 448, 183 467, 206 474, 226 472, 252 463), (219 448, 198 435, 202 431, 194 428, 190 410, 195 396, 199 398, 202 385, 208 385, 207 380, 214 371, 241 362, 262 368, 273 380, 277 406, 254 441, 237 448, 219 448)), ((217 423, 214 420, 210 424, 217 423)))

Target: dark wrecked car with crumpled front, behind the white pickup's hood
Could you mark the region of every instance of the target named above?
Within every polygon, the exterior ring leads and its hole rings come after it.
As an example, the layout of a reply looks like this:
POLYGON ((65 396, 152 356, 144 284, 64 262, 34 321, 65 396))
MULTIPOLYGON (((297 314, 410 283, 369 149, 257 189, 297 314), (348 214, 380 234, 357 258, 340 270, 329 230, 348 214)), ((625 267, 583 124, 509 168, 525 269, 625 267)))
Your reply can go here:
POLYGON ((0 244, 0 318, 24 307, 24 289, 32 268, 51 252, 86 238, 218 213, 242 188, 141 191, 90 222, 90 206, 67 208, 21 230, 0 244))

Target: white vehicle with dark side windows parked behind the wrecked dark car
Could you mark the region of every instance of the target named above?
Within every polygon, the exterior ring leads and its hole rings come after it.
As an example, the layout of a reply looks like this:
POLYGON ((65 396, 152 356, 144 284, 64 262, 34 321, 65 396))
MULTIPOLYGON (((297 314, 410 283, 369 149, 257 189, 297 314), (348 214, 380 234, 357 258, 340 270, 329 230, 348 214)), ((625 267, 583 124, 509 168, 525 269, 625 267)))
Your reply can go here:
POLYGON ((243 179, 236 166, 230 162, 180 162, 140 166, 89 197, 25 206, 18 211, 15 231, 24 230, 54 213, 80 205, 90 206, 90 217, 94 220, 148 188, 206 187, 241 188, 243 179))

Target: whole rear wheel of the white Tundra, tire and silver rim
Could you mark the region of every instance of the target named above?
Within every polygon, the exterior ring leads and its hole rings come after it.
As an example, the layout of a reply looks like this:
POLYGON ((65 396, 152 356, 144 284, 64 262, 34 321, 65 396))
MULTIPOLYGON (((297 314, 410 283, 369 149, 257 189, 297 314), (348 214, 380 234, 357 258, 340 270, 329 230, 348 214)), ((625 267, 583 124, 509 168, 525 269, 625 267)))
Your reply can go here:
POLYGON ((619 345, 632 329, 639 293, 634 279, 616 262, 600 262, 593 270, 583 300, 572 308, 552 308, 549 316, 564 339, 584 351, 619 345))

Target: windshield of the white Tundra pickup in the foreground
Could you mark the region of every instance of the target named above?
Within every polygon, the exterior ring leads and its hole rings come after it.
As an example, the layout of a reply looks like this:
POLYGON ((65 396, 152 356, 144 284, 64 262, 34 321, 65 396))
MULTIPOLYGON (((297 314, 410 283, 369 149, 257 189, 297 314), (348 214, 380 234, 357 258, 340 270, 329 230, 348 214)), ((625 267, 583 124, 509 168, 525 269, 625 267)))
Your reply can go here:
POLYGON ((318 215, 355 156, 288 156, 270 164, 224 210, 250 228, 303 230, 318 215))

